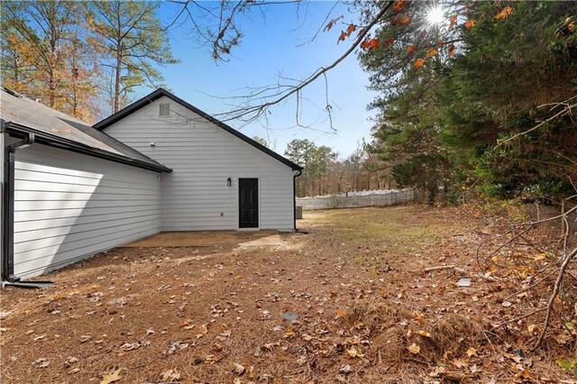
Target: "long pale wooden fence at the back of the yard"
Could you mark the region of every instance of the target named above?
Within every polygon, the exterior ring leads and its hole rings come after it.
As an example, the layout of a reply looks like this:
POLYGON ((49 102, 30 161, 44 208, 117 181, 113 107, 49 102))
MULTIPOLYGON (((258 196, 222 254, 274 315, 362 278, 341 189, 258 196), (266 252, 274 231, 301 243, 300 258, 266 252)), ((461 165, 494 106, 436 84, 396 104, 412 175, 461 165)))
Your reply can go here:
POLYGON ((415 201, 416 191, 414 189, 352 192, 348 196, 345 194, 328 195, 317 197, 297 197, 297 206, 302 206, 303 210, 334 209, 334 208, 356 208, 361 206, 397 206, 415 201))

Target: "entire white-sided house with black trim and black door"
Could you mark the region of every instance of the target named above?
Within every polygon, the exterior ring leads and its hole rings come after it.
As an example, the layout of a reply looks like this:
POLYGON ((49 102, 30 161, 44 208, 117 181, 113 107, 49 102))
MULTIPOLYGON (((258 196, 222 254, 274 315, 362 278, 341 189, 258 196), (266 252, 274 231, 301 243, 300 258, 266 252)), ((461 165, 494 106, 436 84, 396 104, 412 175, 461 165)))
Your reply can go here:
POLYGON ((164 89, 94 127, 0 101, 5 281, 161 231, 295 229, 302 168, 164 89))

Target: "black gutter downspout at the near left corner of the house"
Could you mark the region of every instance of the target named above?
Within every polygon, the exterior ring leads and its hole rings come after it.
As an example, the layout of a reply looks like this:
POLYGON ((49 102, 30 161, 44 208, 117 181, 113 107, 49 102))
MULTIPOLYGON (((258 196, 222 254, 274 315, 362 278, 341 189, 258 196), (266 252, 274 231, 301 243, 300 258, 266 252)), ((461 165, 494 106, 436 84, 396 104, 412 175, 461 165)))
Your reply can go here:
MULTIPOLYGON (((0 122, 0 132, 5 133, 10 123, 0 122)), ((2 212, 2 286, 12 285, 23 288, 43 288, 50 281, 21 281, 14 276, 14 162, 16 150, 30 147, 34 142, 34 133, 27 133, 20 142, 6 145, 4 158, 4 194, 2 212)))

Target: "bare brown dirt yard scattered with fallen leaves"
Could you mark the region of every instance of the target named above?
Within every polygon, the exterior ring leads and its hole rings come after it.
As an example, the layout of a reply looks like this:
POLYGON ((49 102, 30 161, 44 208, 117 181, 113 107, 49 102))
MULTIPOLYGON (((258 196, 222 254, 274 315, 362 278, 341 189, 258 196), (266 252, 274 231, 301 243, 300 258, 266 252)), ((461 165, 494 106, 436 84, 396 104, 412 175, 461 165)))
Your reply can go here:
POLYGON ((53 288, 5 288, 1 381, 576 382, 555 362, 574 359, 570 330, 530 352, 538 318, 495 328, 533 304, 479 277, 477 244, 502 227, 464 212, 307 213, 308 233, 143 242, 43 277, 53 288))

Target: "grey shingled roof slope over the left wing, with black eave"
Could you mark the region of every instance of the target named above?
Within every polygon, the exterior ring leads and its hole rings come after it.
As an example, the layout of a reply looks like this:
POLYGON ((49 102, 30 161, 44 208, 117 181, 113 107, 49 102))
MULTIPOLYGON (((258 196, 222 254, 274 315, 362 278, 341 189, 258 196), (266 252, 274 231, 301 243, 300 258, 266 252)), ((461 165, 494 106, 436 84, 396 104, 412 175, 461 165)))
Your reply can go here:
POLYGON ((87 123, 7 88, 2 88, 0 93, 0 118, 8 132, 34 133, 35 141, 42 144, 139 168, 171 171, 123 142, 96 131, 87 123))

